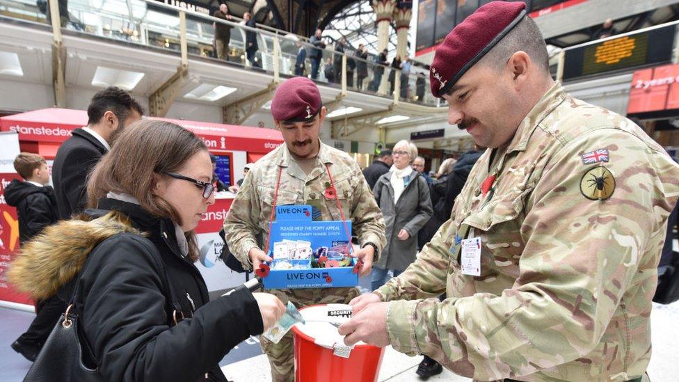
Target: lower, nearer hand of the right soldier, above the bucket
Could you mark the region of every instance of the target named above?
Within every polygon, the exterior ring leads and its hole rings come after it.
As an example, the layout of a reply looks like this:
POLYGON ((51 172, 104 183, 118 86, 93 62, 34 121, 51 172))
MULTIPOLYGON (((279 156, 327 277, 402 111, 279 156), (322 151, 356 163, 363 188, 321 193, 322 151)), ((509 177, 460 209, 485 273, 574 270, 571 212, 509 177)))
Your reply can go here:
POLYGON ((337 328, 340 335, 344 335, 344 343, 351 346, 363 341, 376 347, 389 344, 387 334, 387 308, 389 303, 370 304, 353 318, 337 328))

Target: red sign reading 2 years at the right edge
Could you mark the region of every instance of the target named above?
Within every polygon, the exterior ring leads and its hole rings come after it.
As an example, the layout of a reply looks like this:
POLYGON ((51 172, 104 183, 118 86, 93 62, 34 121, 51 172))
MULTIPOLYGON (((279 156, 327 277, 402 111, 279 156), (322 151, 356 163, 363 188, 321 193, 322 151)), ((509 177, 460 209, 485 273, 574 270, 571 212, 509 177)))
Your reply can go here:
POLYGON ((679 65, 634 72, 628 115, 673 109, 679 109, 679 65))

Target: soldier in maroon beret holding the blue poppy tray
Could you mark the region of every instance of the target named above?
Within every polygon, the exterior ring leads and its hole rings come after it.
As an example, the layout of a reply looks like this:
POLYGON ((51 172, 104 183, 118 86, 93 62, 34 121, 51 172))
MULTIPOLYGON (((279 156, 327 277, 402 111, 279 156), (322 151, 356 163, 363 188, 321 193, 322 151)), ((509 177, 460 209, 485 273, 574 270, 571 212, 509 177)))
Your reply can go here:
MULTIPOLYGON (((360 276, 366 276, 385 243, 382 212, 356 161, 319 140, 326 109, 321 106, 317 86, 305 77, 285 81, 276 91, 271 113, 285 145, 259 159, 243 180, 224 222, 227 245, 245 269, 256 269, 260 262, 271 260, 264 253, 264 242, 274 199, 275 205, 311 205, 314 220, 337 221, 342 216, 337 207, 339 198, 344 218, 351 219, 360 243, 361 249, 355 252, 364 261, 360 276), (336 192, 331 191, 333 184, 336 192)), ((298 308, 349 303, 359 294, 355 287, 268 292, 283 303, 292 301, 298 308)), ((264 337, 260 341, 269 356, 273 380, 294 380, 291 333, 278 344, 264 337)))

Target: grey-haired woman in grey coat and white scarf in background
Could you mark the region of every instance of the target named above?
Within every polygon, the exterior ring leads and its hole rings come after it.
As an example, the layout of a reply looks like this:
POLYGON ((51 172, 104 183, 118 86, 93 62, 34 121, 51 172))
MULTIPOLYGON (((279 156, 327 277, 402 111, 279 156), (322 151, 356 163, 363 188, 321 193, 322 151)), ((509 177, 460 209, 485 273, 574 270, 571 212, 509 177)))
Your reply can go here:
POLYGON ((373 193, 382 209, 386 225, 387 245, 372 269, 372 290, 385 284, 388 272, 399 276, 417 255, 417 231, 433 214, 429 186, 410 167, 417 157, 417 148, 408 141, 399 141, 392 151, 394 165, 375 184, 373 193))

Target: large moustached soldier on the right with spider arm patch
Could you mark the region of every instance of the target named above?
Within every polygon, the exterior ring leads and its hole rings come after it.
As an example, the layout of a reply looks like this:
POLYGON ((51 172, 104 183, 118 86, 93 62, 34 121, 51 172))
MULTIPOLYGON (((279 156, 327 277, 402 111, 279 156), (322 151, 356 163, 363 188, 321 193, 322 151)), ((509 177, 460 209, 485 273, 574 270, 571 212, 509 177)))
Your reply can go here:
POLYGON ((524 7, 489 3, 436 51, 432 92, 449 102, 451 124, 490 149, 451 219, 398 278, 352 301, 340 333, 479 381, 648 379, 651 299, 679 168, 630 120, 552 81, 524 7), (470 61, 477 52, 460 42, 489 25, 504 40, 470 61), (445 301, 433 298, 442 292, 445 301))

